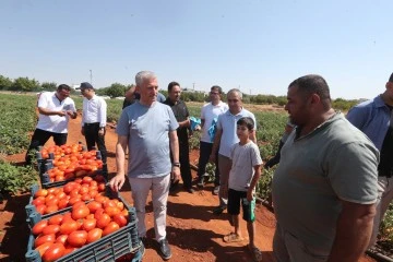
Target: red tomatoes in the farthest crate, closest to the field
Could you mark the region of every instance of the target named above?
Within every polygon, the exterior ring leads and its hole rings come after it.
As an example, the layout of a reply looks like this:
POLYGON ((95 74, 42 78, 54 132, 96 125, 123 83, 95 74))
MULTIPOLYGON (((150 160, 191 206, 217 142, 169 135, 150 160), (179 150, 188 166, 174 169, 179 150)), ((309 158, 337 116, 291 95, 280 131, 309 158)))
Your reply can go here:
POLYGON ((53 168, 47 170, 50 182, 64 181, 75 177, 91 176, 103 168, 103 160, 96 158, 96 151, 56 153, 53 168))

